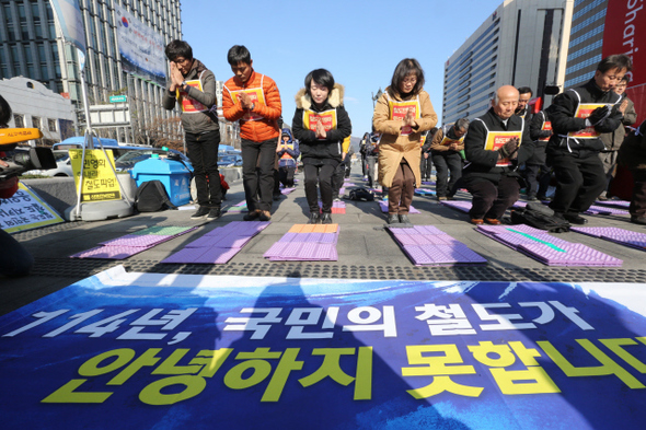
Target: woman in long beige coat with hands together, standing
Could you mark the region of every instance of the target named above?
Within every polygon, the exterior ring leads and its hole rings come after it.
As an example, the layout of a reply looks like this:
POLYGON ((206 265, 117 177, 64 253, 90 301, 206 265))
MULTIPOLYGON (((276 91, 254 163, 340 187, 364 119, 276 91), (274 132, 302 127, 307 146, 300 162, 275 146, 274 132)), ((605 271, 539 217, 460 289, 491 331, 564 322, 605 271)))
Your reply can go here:
POLYGON ((419 138, 437 124, 424 91, 424 70, 414 58, 395 68, 389 88, 377 102, 372 126, 379 143, 379 183, 388 187, 388 223, 409 224, 415 184, 422 184, 419 138))

